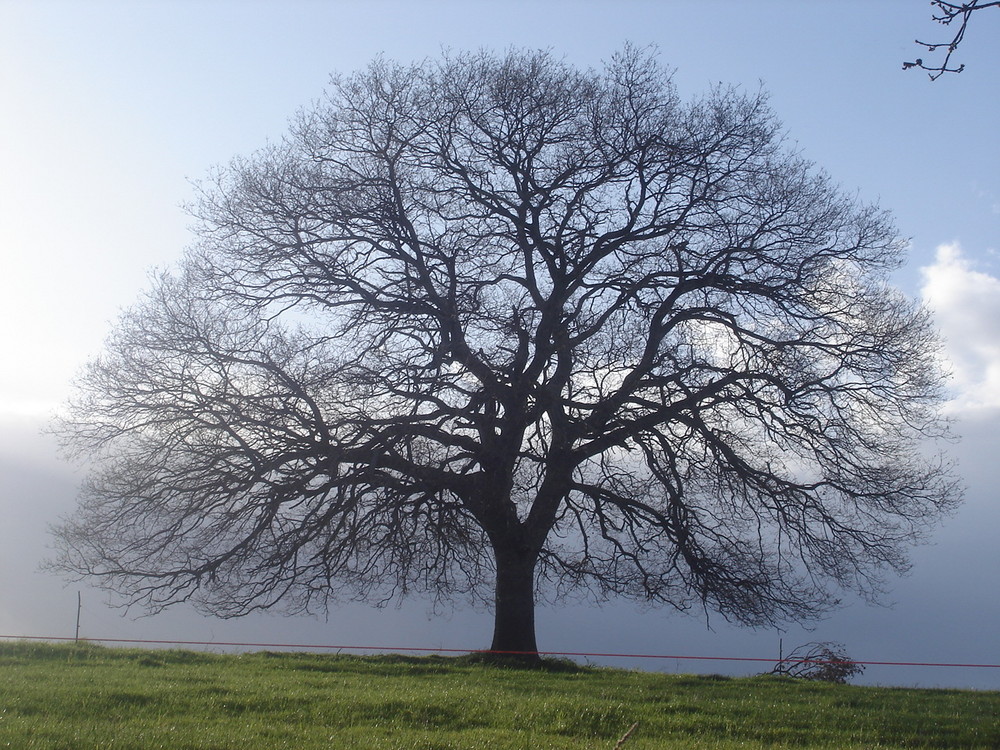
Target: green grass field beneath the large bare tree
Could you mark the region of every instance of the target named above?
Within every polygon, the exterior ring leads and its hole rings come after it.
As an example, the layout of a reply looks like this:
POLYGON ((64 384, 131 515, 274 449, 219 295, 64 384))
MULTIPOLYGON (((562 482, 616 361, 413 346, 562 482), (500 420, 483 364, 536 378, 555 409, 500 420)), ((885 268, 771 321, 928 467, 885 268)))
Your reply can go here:
POLYGON ((998 748, 1000 692, 0 643, 0 748, 998 748))

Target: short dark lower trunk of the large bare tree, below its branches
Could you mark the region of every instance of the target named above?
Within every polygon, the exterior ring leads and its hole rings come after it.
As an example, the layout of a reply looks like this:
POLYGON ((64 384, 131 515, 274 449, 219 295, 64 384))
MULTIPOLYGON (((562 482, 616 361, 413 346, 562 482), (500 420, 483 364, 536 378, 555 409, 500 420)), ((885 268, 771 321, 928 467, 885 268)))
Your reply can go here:
POLYGON ((497 552, 497 587, 493 645, 519 660, 538 661, 535 643, 535 559, 511 552, 497 552))

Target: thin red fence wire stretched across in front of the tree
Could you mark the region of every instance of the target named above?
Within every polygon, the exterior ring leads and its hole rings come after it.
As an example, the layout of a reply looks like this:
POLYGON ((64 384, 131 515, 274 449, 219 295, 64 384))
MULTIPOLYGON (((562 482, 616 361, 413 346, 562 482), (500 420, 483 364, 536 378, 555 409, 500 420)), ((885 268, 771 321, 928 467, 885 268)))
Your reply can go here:
MULTIPOLYGON (((49 635, 0 635, 0 640, 24 640, 24 641, 74 641, 74 638, 61 638, 49 635)), ((429 654, 497 654, 503 656, 527 656, 535 655, 531 651, 491 651, 490 649, 462 649, 462 648, 421 648, 415 646, 344 646, 331 644, 314 643, 243 643, 235 641, 178 641, 178 640, 155 640, 148 638, 80 638, 88 643, 119 643, 133 645, 160 645, 160 646, 213 646, 213 647, 240 647, 240 648, 283 648, 302 650, 323 650, 323 651, 369 651, 380 653, 429 653, 429 654)), ((605 659, 675 659, 686 661, 736 661, 736 662, 766 662, 776 664, 779 661, 796 664, 827 664, 840 662, 827 662, 816 659, 775 659, 755 656, 686 656, 678 654, 627 654, 627 653, 604 653, 597 651, 539 651, 541 656, 563 656, 563 657, 594 657, 605 659)), ((950 662, 928 662, 928 661, 859 661, 851 659, 852 664, 864 666, 885 666, 885 667, 963 667, 963 668, 984 668, 1000 669, 1000 664, 960 664, 950 662)))

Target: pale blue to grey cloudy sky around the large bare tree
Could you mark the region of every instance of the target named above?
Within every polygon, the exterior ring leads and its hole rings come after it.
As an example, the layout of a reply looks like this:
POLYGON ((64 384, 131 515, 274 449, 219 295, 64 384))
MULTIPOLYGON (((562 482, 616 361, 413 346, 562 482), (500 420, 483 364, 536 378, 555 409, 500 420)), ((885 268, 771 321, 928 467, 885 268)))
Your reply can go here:
MULTIPOLYGON (((1000 10, 974 18, 936 82, 902 62, 948 38, 925 0, 0 0, 0 635, 474 649, 488 612, 423 601, 326 618, 123 615, 41 570, 48 526, 72 512, 79 467, 43 427, 119 311, 191 241, 183 205, 216 164, 279 140, 334 72, 384 55, 550 49, 597 67, 655 46, 686 98, 763 89, 794 148, 878 201, 910 238, 894 283, 934 312, 952 377, 966 501, 913 550, 882 606, 854 601, 804 630, 609 602, 538 613, 562 652, 774 658, 837 641, 861 661, 1000 664, 1000 10)), ((926 58, 927 55, 923 54, 926 58)), ((757 662, 590 657, 743 674, 757 662)), ((868 683, 1000 689, 1000 669, 869 666, 868 683)))

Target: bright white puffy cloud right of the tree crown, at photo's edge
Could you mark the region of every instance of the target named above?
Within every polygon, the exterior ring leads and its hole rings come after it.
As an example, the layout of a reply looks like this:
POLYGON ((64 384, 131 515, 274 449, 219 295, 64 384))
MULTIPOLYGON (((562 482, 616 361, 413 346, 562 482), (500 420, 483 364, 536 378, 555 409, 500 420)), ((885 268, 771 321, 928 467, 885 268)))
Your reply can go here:
POLYGON ((957 242, 940 245, 934 263, 920 271, 921 296, 953 374, 949 410, 1000 408, 1000 278, 977 270, 957 242))

